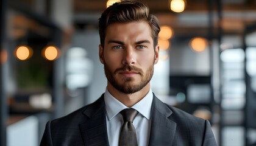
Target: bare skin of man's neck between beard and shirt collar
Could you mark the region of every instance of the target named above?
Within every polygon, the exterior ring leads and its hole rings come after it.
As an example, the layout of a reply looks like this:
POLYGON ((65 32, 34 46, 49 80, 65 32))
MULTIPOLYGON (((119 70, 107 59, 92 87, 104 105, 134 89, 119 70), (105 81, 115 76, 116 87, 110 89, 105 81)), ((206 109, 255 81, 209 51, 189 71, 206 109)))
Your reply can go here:
POLYGON ((120 92, 116 88, 114 88, 110 83, 108 83, 107 89, 108 92, 110 92, 110 94, 112 94, 112 96, 115 97, 115 99, 117 99, 119 102, 123 103, 127 107, 132 107, 141 99, 143 99, 143 97, 146 96, 146 94, 148 94, 150 89, 150 83, 144 86, 144 88, 140 91, 132 94, 120 92))

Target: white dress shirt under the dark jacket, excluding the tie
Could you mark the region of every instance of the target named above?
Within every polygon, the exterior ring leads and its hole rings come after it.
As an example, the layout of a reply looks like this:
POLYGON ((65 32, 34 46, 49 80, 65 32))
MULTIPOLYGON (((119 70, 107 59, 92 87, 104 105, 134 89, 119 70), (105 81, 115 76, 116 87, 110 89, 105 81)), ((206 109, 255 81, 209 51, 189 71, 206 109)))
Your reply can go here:
MULTIPOLYGON (((107 89, 104 94, 104 100, 107 111, 108 142, 110 146, 118 146, 119 133, 123 125, 123 117, 119 112, 129 107, 115 99, 107 89)), ((131 107, 138 111, 137 116, 133 120, 133 125, 137 133, 138 146, 146 146, 149 143, 152 101, 153 93, 150 89, 148 94, 140 102, 131 107)))

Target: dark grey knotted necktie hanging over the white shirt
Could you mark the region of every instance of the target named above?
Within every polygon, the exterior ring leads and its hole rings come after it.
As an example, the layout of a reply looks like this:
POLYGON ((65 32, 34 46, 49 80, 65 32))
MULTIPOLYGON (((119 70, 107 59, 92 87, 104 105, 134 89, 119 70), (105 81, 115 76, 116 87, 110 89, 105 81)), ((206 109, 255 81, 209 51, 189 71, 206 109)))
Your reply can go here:
POLYGON ((123 116, 124 123, 121 128, 120 137, 119 137, 119 146, 136 146, 137 145, 137 137, 136 131, 133 127, 133 120, 135 116, 138 114, 138 111, 132 108, 124 109, 120 112, 123 116))

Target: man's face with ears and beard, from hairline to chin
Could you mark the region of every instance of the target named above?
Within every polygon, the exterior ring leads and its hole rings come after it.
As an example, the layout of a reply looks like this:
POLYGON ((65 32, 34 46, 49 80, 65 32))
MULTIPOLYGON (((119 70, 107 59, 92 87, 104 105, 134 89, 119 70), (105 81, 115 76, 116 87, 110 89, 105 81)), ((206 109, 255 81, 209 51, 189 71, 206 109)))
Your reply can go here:
POLYGON ((126 94, 140 91, 149 84, 158 61, 159 47, 154 48, 149 24, 113 23, 105 34, 99 57, 108 83, 126 94))

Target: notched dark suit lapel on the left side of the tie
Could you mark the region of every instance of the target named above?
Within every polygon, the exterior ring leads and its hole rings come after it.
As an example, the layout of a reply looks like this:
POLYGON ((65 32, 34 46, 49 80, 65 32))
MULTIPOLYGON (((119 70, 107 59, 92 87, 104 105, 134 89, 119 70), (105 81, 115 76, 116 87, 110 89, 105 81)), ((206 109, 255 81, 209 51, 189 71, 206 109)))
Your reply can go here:
POLYGON ((108 145, 104 97, 84 111, 87 120, 79 125, 85 145, 108 145))

